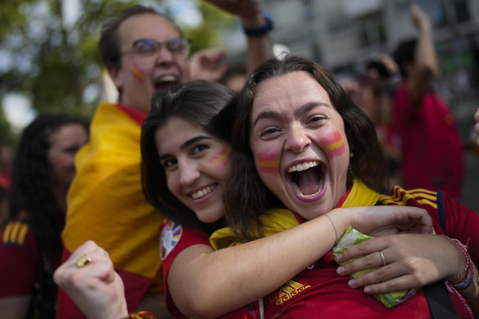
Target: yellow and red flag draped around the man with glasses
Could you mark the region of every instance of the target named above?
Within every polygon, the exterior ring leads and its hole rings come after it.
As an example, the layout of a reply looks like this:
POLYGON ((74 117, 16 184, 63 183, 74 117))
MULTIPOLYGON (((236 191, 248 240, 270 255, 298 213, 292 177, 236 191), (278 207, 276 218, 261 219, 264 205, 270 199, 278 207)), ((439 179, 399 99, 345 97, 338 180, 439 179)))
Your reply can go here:
POLYGON ((142 192, 138 123, 118 106, 100 103, 90 130, 67 196, 63 260, 85 241, 95 241, 110 254, 133 311, 161 268, 164 217, 142 192))

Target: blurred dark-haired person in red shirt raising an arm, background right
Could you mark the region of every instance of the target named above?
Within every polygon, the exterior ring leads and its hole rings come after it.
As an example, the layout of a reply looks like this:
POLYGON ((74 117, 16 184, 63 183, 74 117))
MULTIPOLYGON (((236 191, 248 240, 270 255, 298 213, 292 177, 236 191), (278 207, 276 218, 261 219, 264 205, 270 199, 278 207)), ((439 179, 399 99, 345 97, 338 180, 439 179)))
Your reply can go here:
POLYGON ((394 52, 403 82, 393 98, 393 131, 402 140, 401 173, 405 188, 442 190, 461 198, 463 147, 454 116, 431 91, 439 76, 429 16, 416 4, 411 19, 419 35, 394 52))

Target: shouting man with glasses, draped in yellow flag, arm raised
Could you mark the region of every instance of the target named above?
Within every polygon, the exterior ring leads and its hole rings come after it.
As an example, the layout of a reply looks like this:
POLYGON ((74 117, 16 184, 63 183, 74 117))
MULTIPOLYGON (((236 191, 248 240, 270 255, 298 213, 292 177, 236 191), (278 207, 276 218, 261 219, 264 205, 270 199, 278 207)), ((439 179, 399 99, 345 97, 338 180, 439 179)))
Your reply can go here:
MULTIPOLYGON (((240 15, 248 35, 248 66, 272 57, 271 20, 259 0, 211 0, 240 15)), ((194 39, 193 39, 194 40, 194 39)), ((155 90, 192 79, 218 79, 212 69, 223 54, 200 52, 190 61, 190 41, 168 18, 136 5, 107 22, 99 50, 118 89, 118 104, 101 102, 91 124, 90 142, 75 159, 77 176, 67 197, 62 233, 65 261, 78 246, 94 240, 122 277, 128 311, 151 311, 170 318, 164 305, 159 228, 160 212, 141 188, 140 129, 155 90)), ((94 262, 94 261, 93 261, 94 262)), ((57 318, 85 318, 61 290, 57 318)))

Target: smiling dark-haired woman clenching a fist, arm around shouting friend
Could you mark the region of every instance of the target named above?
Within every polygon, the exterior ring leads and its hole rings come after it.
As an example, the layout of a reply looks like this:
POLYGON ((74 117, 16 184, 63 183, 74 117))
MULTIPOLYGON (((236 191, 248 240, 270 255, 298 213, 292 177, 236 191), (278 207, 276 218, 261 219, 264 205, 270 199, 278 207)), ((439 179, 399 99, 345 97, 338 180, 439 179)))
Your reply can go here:
MULTIPOLYGON (((242 306, 324 255, 336 232, 344 233, 350 224, 365 233, 412 225, 429 231, 431 219, 421 209, 354 207, 329 212, 331 221, 319 217, 280 234, 214 251, 208 237, 224 225, 222 197, 233 170, 229 141, 235 100, 232 91, 217 83, 172 86, 153 96, 143 123, 144 192, 172 220, 162 228, 160 253, 167 306, 176 318, 219 317, 236 309, 225 318, 249 316, 249 308, 242 306), (289 245, 278 250, 282 243, 289 245), (297 258, 291 260, 291 254, 297 258), (271 265, 284 263, 289 267, 268 275, 271 265)), ((88 318, 128 315, 119 276, 94 242, 80 246, 55 272, 55 281, 88 318)))

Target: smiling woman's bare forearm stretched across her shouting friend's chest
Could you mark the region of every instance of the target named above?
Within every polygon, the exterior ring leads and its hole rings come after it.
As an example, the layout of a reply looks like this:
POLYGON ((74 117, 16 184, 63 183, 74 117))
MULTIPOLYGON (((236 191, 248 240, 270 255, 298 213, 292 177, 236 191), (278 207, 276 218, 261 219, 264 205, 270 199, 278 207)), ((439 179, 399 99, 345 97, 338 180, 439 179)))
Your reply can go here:
MULTIPOLYGON (((349 226, 347 214, 333 210, 328 215, 341 236, 349 226)), ((320 216, 259 240, 200 254, 182 270, 179 255, 170 268, 168 287, 185 315, 215 318, 274 291, 327 253, 335 241, 331 221, 320 216)))

